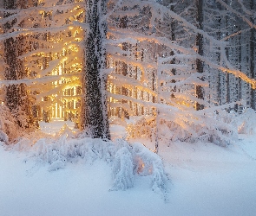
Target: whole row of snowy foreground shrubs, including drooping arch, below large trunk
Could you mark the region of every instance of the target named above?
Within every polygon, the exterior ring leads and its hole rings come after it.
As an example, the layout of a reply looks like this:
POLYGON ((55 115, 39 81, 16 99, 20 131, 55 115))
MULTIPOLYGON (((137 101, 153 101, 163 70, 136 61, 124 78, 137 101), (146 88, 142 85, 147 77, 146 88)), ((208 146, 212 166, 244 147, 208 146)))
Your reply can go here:
POLYGON ((30 149, 30 144, 24 148, 28 140, 23 139, 13 149, 28 150, 40 162, 49 163, 49 171, 64 168, 67 162, 78 159, 89 163, 102 160, 112 166, 111 190, 126 190, 134 186, 135 176, 149 175, 151 188, 166 194, 168 179, 161 158, 141 143, 131 144, 123 139, 115 142, 92 139, 84 133, 74 135, 68 129, 63 131, 68 133, 41 138, 30 149))

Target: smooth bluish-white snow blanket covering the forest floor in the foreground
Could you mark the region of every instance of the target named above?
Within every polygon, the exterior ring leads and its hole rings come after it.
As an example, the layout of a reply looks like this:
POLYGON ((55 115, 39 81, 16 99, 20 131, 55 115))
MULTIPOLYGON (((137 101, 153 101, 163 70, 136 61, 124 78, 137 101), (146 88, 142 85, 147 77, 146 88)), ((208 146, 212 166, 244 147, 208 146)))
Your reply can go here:
POLYGON ((106 162, 78 160, 49 171, 47 163, 0 144, 0 215, 255 215, 256 136, 240 136, 227 148, 171 143, 159 155, 172 181, 167 201, 150 189, 148 176, 137 176, 126 191, 109 191, 106 162))

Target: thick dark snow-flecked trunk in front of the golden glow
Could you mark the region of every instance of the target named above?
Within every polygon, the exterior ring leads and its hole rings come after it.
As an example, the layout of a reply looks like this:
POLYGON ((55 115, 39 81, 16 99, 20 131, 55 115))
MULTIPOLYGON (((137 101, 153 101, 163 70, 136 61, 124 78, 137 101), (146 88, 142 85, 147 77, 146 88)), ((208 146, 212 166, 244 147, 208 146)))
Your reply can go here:
POLYGON ((86 23, 89 30, 85 41, 85 65, 83 72, 82 129, 88 130, 93 138, 110 138, 108 126, 106 82, 101 70, 106 67, 106 52, 103 40, 106 38, 106 0, 89 0, 86 23))

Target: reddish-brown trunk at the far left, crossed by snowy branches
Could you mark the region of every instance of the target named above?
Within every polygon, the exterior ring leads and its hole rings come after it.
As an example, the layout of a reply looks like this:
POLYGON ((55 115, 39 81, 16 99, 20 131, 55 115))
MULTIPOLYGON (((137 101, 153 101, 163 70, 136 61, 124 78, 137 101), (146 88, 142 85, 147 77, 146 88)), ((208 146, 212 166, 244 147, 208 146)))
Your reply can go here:
MULTIPOLYGON (((3 8, 6 10, 15 10, 23 8, 24 5, 19 5, 15 0, 4 0, 3 8)), ((5 17, 10 16, 9 13, 4 13, 5 17)), ((4 31, 10 30, 16 20, 4 24, 4 31)), ((26 72, 23 67, 23 60, 19 60, 18 56, 25 53, 26 38, 18 36, 16 38, 6 39, 4 44, 4 60, 8 67, 4 71, 4 79, 17 80, 24 79, 26 72)), ((19 126, 30 128, 33 125, 33 117, 31 111, 31 101, 27 86, 25 84, 10 85, 6 87, 5 104, 16 117, 19 126)))

